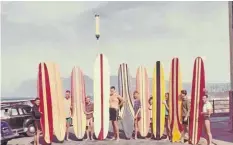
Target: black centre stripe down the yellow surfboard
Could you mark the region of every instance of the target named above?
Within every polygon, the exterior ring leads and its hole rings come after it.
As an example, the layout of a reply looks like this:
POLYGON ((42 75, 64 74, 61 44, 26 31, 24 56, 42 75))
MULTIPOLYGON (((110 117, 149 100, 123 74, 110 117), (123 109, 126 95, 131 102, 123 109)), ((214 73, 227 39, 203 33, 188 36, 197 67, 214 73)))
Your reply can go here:
POLYGON ((156 118, 157 118, 157 121, 156 121, 156 126, 157 126, 157 128, 156 128, 156 137, 157 138, 160 138, 160 107, 161 107, 161 105, 160 105, 160 103, 161 103, 161 88, 160 88, 160 86, 161 86, 161 84, 160 84, 160 62, 159 61, 157 61, 156 62, 156 73, 157 73, 157 75, 156 75, 156 81, 157 81, 157 83, 156 83, 156 89, 157 89, 157 105, 156 105, 156 107, 157 107, 157 109, 156 109, 156 118))

